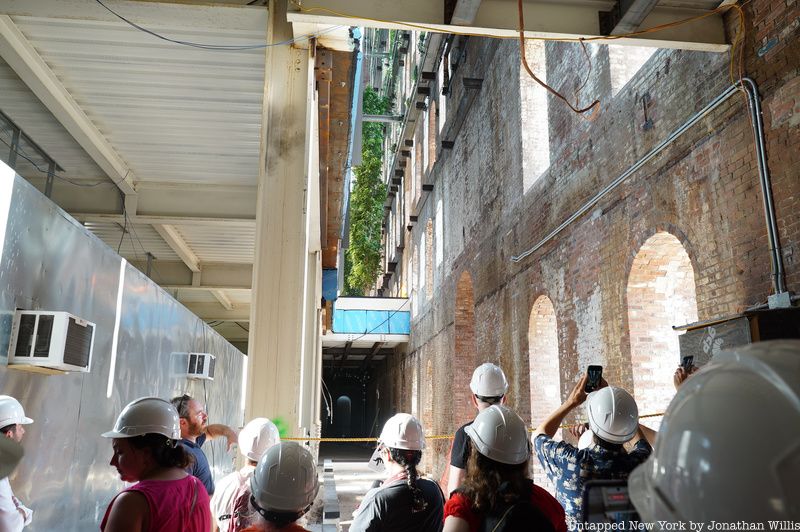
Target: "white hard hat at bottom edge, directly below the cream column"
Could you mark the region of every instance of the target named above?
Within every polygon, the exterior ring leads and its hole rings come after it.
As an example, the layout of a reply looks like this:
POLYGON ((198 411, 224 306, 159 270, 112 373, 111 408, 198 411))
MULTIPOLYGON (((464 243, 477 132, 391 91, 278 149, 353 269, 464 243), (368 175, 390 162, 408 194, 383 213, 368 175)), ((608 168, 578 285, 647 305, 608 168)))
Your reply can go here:
POLYGON ((319 491, 317 466, 305 447, 295 442, 273 445, 258 461, 250 492, 266 511, 302 512, 319 491))

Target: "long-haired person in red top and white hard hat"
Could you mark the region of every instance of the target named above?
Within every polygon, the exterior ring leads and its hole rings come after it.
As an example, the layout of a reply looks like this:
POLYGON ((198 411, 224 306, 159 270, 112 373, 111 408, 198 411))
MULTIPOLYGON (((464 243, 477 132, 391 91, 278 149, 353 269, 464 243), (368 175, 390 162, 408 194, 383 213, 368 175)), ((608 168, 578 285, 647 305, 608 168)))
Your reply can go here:
POLYGON ((529 478, 525 422, 507 406, 492 405, 465 431, 472 442, 469 465, 445 504, 444 531, 566 532, 564 509, 529 478))

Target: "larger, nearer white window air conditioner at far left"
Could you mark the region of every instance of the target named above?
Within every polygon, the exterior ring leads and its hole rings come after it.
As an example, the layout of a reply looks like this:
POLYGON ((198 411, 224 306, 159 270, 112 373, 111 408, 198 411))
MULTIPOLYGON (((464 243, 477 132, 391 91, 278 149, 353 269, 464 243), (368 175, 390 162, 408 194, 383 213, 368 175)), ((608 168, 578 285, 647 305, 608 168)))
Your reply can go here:
POLYGON ((94 330, 94 323, 69 312, 18 310, 11 325, 8 365, 39 373, 88 373, 94 330))

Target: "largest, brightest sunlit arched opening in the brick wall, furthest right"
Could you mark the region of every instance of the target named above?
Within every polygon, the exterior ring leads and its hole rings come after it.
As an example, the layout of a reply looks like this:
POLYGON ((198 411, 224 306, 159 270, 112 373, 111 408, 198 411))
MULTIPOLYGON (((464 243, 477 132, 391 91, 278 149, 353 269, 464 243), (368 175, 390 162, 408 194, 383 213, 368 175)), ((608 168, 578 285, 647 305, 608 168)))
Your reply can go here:
MULTIPOLYGON (((675 394, 680 362, 673 325, 697 321, 694 268, 680 240, 660 231, 639 248, 628 276, 633 392, 640 414, 663 412, 675 394)), ((657 428, 660 418, 643 420, 657 428)))

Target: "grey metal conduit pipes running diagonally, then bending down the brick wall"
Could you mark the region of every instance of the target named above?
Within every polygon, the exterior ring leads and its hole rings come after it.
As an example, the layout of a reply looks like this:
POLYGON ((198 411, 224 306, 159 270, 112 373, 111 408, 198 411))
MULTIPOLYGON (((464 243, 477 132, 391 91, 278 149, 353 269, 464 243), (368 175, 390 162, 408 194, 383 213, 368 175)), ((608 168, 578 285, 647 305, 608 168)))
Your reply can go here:
POLYGON ((708 104, 706 104, 705 107, 703 107, 700 111, 693 114, 691 117, 689 117, 688 120, 686 120, 677 129, 675 129, 672 133, 670 133, 670 135, 666 139, 661 141, 656 147, 647 152, 647 154, 644 157, 636 161, 627 170, 625 170, 617 178, 611 181, 611 183, 606 185, 602 190, 600 190, 597 194, 595 194, 589 201, 584 203, 566 220, 564 220, 564 222, 562 222, 561 225, 553 229, 547 236, 545 236, 532 248, 528 249, 527 251, 517 256, 511 257, 511 261, 521 262, 526 257, 532 255, 540 248, 542 248, 545 244, 553 240, 559 233, 561 233, 561 231, 563 231, 572 222, 574 222, 575 220, 577 220, 578 218, 589 212, 589 210, 592 207, 594 207, 597 204, 597 202, 599 202, 604 196, 606 196, 611 191, 616 189, 626 179, 628 179, 636 171, 638 171, 645 164, 647 164, 649 161, 655 158, 667 146, 669 146, 675 140, 677 140, 681 135, 683 135, 686 131, 688 131, 703 117, 705 117, 708 113, 719 107, 723 102, 725 102, 728 98, 736 94, 739 90, 742 90, 747 95, 747 102, 750 110, 751 123, 753 125, 753 132, 755 134, 755 139, 756 139, 755 148, 758 159, 758 174, 761 183, 761 194, 764 200, 764 215, 766 217, 766 222, 767 222, 767 237, 769 240, 769 248, 770 248, 769 251, 772 262, 772 281, 773 281, 772 285, 775 293, 785 292, 786 286, 784 283, 783 260, 781 255, 780 243, 778 242, 778 229, 775 220, 775 211, 772 201, 772 189, 770 186, 769 170, 767 168, 766 150, 764 147, 764 127, 761 120, 761 104, 759 102, 758 88, 755 82, 750 78, 743 78, 742 80, 734 83, 733 85, 725 89, 716 98, 714 98, 708 104))

